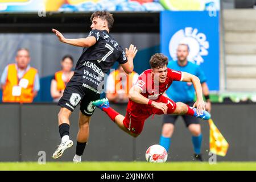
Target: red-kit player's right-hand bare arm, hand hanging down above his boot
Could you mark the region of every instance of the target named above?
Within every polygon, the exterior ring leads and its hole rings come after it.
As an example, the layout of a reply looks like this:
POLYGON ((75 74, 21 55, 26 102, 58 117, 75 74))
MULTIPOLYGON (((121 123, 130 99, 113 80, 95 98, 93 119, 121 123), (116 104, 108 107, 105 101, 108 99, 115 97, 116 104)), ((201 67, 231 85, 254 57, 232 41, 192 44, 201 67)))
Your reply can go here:
POLYGON ((196 90, 196 102, 193 105, 193 108, 196 107, 196 112, 197 114, 202 114, 203 110, 205 110, 205 103, 204 103, 204 99, 203 99, 203 91, 202 91, 202 86, 201 86, 201 82, 199 80, 199 78, 195 75, 192 75, 190 73, 187 72, 182 72, 183 74, 183 80, 185 82, 192 82, 193 86, 196 90))

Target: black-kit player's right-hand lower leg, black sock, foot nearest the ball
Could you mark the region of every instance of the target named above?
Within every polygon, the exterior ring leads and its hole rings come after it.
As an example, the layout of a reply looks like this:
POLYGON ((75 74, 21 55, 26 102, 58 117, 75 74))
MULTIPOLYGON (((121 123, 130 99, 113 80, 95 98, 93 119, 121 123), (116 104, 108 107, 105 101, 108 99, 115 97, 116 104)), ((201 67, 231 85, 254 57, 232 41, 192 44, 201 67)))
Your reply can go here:
POLYGON ((89 139, 89 125, 90 125, 90 118, 84 114, 79 113, 79 131, 77 133, 76 138, 76 155, 73 158, 73 162, 80 163, 82 154, 84 153, 84 148, 86 143, 89 139))

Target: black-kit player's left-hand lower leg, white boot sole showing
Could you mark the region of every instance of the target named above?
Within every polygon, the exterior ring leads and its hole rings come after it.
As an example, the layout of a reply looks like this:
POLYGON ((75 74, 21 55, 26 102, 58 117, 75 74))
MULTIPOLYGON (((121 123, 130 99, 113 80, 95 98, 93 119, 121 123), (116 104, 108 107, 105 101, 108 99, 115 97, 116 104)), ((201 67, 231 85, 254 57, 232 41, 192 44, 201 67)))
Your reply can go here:
POLYGON ((72 112, 64 107, 61 107, 58 114, 59 133, 61 143, 57 150, 53 153, 52 158, 57 159, 63 155, 63 152, 73 146, 72 140, 69 139, 69 117, 72 112))

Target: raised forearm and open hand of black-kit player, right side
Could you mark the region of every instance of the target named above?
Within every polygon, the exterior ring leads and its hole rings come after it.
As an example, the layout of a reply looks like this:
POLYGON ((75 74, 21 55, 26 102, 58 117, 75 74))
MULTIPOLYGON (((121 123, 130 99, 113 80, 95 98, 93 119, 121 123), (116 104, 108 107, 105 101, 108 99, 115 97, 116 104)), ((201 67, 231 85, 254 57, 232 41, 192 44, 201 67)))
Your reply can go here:
POLYGON ((133 59, 137 52, 138 52, 138 49, 133 44, 130 45, 129 49, 125 48, 127 63, 122 64, 122 68, 127 74, 133 72, 133 68, 134 68, 133 59))

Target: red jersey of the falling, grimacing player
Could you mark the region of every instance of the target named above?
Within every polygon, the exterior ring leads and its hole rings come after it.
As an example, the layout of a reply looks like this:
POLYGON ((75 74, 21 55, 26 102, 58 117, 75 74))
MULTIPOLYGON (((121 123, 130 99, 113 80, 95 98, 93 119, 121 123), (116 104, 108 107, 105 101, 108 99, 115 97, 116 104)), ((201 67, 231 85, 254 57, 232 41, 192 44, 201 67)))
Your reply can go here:
POLYGON ((158 100, 159 96, 170 87, 172 81, 182 81, 182 79, 182 72, 167 68, 166 81, 164 83, 158 83, 155 82, 156 79, 152 77, 151 69, 147 69, 139 76, 136 85, 141 88, 142 96, 150 100, 158 100))

